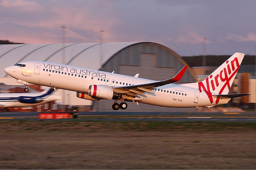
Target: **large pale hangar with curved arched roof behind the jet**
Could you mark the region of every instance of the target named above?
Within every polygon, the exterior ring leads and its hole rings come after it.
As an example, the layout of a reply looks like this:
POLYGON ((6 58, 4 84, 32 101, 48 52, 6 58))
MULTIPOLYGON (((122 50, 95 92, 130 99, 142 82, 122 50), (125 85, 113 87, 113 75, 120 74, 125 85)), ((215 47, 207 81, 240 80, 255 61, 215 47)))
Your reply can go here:
MULTIPOLYGON (((4 44, 0 45, 0 61, 4 61, 0 63, 0 77, 8 76, 4 72, 6 66, 20 61, 39 60, 62 63, 62 56, 68 65, 99 69, 104 63, 101 67, 104 71, 115 71, 115 73, 132 76, 135 75, 133 73, 140 73, 141 78, 155 80, 171 78, 187 65, 171 49, 151 42, 4 44)), ((191 68, 188 68, 181 81, 197 81, 191 68)))

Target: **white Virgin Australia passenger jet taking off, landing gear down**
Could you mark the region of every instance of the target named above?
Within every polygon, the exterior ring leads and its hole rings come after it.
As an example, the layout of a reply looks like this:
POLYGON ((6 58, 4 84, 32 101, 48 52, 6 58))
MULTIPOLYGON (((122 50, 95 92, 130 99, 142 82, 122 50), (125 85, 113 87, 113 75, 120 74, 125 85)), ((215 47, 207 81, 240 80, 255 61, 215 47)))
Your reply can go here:
POLYGON ((25 84, 25 91, 28 83, 76 91, 82 99, 113 99, 113 110, 126 109, 126 101, 164 107, 212 107, 250 95, 228 94, 243 58, 243 53, 235 53, 203 81, 186 84, 173 83, 180 81, 188 66, 164 81, 43 61, 19 62, 4 71, 25 84))

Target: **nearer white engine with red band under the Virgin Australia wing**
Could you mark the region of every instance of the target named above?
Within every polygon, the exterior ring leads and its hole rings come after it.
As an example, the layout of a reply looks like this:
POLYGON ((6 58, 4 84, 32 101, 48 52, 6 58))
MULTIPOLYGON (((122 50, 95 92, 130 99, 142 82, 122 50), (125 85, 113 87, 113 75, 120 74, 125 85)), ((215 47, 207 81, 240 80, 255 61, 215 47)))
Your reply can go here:
POLYGON ((101 99, 115 99, 118 98, 118 94, 106 86, 90 85, 88 95, 91 97, 97 97, 101 99))

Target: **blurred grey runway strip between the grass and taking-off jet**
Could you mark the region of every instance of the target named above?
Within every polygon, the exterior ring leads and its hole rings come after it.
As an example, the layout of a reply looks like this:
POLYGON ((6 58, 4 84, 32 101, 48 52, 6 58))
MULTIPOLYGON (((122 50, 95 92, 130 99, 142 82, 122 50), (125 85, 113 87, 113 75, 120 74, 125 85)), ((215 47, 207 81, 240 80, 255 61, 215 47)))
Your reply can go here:
MULTIPOLYGON (((1 120, 39 120, 39 112, 0 112, 1 120)), ((255 112, 77 112, 78 119, 47 121, 227 121, 256 122, 255 112), (88 117, 88 118, 87 118, 88 117)))

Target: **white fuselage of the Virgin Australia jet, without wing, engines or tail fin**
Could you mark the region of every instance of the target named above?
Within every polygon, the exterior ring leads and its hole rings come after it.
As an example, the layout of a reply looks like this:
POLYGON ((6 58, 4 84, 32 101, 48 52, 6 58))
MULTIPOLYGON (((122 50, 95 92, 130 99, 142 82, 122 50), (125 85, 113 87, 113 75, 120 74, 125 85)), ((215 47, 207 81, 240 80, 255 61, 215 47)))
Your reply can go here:
MULTIPOLYGON (((27 61, 21 63, 24 66, 10 66, 4 71, 17 80, 86 94, 88 94, 90 85, 124 87, 156 82, 50 62, 27 61)), ((197 83, 168 84, 156 87, 152 92, 154 94, 145 92, 145 96, 138 95, 140 99, 135 100, 135 102, 165 107, 201 107, 226 104, 230 100, 229 98, 221 98, 217 104, 211 103, 204 91, 199 92, 197 83)))

